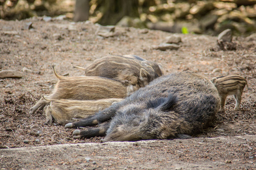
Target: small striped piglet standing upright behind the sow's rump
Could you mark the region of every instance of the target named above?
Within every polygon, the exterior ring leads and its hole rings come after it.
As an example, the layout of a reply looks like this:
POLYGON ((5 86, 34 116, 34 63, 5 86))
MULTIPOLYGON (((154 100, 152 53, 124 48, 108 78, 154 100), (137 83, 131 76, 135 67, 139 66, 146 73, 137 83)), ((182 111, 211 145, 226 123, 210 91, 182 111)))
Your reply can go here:
POLYGON ((221 97, 221 111, 225 110, 226 97, 233 95, 236 99, 234 110, 238 110, 241 104, 243 88, 248 88, 246 79, 240 75, 224 75, 212 79, 214 86, 221 97))

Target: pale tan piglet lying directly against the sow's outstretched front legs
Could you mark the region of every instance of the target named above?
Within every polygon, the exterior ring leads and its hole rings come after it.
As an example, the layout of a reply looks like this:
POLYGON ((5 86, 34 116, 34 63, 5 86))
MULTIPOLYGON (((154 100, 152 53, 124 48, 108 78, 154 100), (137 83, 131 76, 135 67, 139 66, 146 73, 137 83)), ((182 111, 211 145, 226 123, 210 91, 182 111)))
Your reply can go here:
POLYGON ((98 99, 98 100, 68 100, 68 99, 52 99, 50 105, 46 108, 47 124, 51 124, 52 120, 59 124, 67 124, 72 122, 74 118, 86 118, 93 116, 98 111, 102 111, 110 107, 113 103, 122 101, 123 99, 98 99))

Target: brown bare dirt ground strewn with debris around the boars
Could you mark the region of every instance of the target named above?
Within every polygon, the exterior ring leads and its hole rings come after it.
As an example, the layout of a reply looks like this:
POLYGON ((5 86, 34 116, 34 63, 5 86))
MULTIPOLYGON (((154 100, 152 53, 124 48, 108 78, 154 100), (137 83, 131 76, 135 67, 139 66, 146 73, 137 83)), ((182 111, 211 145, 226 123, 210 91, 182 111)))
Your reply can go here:
MULTIPOLYGON (((109 151, 126 152, 126 156, 122 156, 122 154, 113 156, 113 158, 106 159, 109 161, 105 160, 105 162, 104 159, 98 159, 98 161, 102 160, 101 166, 98 165, 99 162, 96 164, 91 162, 92 164, 88 167, 86 162, 85 167, 75 168, 161 169, 162 167, 168 169, 163 155, 160 156, 163 152, 165 156, 169 154, 170 158, 175 157, 175 161, 179 160, 178 164, 191 163, 191 168, 195 169, 199 168, 196 164, 203 164, 203 162, 212 164, 219 162, 223 165, 222 168, 228 169, 256 168, 256 33, 247 37, 233 37, 233 42, 237 44, 236 50, 209 50, 216 46, 217 37, 189 34, 179 35, 182 40, 179 49, 162 51, 152 49, 152 46, 164 42, 171 33, 116 27, 114 36, 102 37, 96 34, 97 27, 90 22, 72 23, 58 19, 52 19, 48 22, 42 18, 22 21, 0 20, 0 71, 8 69, 22 71, 24 67, 29 69, 23 72, 23 78, 0 79, 0 147, 9 148, 0 150, 0 168, 42 168, 30 167, 29 162, 22 164, 18 161, 19 158, 11 159, 4 153, 7 150, 15 152, 20 147, 33 150, 32 146, 34 148, 34 146, 85 143, 82 146, 86 147, 89 157, 94 156, 94 159, 99 154, 97 151, 100 152, 97 147, 102 146, 101 148, 108 152, 106 145, 98 144, 100 137, 73 139, 73 129, 64 129, 62 125, 56 123, 46 125, 44 124, 46 116, 43 111, 29 114, 29 109, 42 95, 51 94, 53 84, 57 82, 51 67, 53 63, 56 64, 57 72, 62 75, 81 76, 84 73, 81 70, 73 69, 73 65, 85 67, 94 59, 104 57, 109 53, 135 54, 147 60, 161 63, 164 74, 188 69, 207 78, 238 74, 247 79, 251 90, 246 87, 243 91, 239 111, 233 110, 235 101, 232 97, 228 97, 226 111, 225 113, 218 113, 214 127, 205 130, 204 133, 193 139, 151 141, 151 143, 150 141, 149 143, 145 141, 144 143, 143 141, 141 143, 125 142, 121 148, 118 147, 121 144, 117 144, 116 148, 112 146, 109 151), (29 22, 32 22, 31 29, 27 28, 29 22), (241 141, 236 142, 234 136, 249 136, 250 138, 243 139, 243 143, 241 143, 241 141), (191 142, 194 140, 200 143, 200 141, 208 141, 210 138, 218 139, 214 137, 225 138, 225 143, 212 142, 208 143, 209 145, 195 145, 195 142, 191 142), (185 145, 181 145, 183 142, 185 145), (125 148, 126 144, 129 149, 125 148), (150 147, 151 145, 152 147, 150 147), (182 151, 177 148, 182 148, 182 151), (129 150, 128 153, 127 150, 129 150), (148 154, 154 154, 152 151, 155 151, 156 156, 148 156, 148 154), (182 156, 179 156, 181 152, 182 156), (135 157, 133 158, 133 156, 135 157), (137 156, 141 159, 145 158, 145 160, 143 162, 129 162, 127 160, 132 158, 134 160, 137 156), (115 159, 118 159, 118 162, 115 159), (112 164, 110 164, 110 160, 112 164), (159 164, 159 162, 164 163, 159 164), (123 166, 118 166, 122 163, 123 166), (140 164, 145 163, 148 165, 140 166, 140 164), (126 167, 125 164, 132 165, 126 167)), ((79 149, 77 148, 77 150, 79 149)), ((72 152, 72 150, 70 151, 72 152)), ((40 155, 38 159, 40 157, 45 158, 45 163, 49 163, 52 160, 52 152, 40 152, 36 156, 40 155)), ((108 154, 111 157, 111 152, 108 154)), ((22 158, 25 156, 18 155, 22 158)), ((70 163, 66 164, 65 161, 61 162, 57 159, 56 161, 59 162, 47 168, 72 169, 70 163), (62 166, 63 164, 68 166, 62 166)), ((182 168, 182 166, 174 166, 173 168, 175 167, 182 168)), ((218 166, 202 168, 217 169, 218 166)))

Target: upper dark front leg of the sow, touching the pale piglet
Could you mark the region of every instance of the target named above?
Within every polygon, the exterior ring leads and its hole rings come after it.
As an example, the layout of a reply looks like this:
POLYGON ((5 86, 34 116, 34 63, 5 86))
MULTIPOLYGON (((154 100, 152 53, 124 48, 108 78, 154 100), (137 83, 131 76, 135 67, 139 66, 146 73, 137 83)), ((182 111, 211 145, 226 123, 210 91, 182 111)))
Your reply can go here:
POLYGON ((65 125, 65 128, 78 128, 98 125, 101 122, 110 120, 115 115, 115 111, 117 111, 118 107, 119 104, 115 103, 111 105, 109 108, 106 108, 105 110, 96 113, 95 116, 87 117, 78 122, 68 123, 65 125))

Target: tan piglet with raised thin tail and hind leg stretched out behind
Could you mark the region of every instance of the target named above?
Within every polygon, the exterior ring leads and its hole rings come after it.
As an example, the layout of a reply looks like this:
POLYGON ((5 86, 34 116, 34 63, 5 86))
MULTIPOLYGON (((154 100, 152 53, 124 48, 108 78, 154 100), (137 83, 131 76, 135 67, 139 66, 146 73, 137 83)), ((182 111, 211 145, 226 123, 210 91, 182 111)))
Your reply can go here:
MULTIPOLYGON (((126 87, 117 80, 100 76, 60 76, 53 72, 59 79, 52 94, 46 96, 48 100, 71 99, 71 100, 97 100, 109 98, 124 98, 127 96, 126 87)), ((43 97, 30 109, 34 113, 38 108, 43 108, 49 101, 43 97)))

